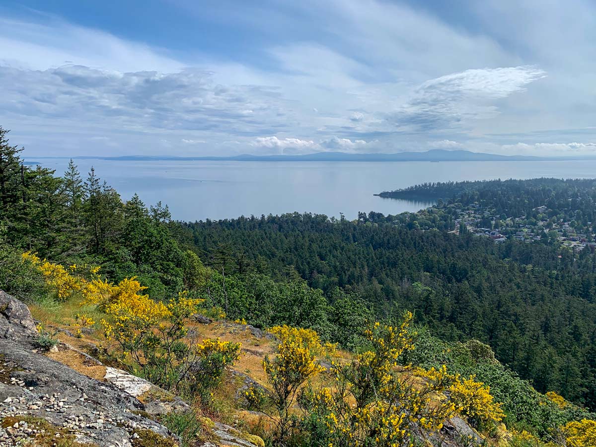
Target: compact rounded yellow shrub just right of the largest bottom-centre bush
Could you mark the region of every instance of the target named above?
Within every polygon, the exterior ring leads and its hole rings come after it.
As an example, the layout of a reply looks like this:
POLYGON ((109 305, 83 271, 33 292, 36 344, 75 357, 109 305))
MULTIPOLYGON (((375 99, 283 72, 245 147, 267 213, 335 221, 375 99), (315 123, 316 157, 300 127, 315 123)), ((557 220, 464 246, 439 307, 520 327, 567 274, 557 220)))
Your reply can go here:
POLYGON ((491 387, 474 380, 471 375, 466 380, 455 377, 449 387, 452 402, 457 405, 458 412, 470 418, 476 425, 497 423, 505 417, 501 404, 494 401, 491 387))

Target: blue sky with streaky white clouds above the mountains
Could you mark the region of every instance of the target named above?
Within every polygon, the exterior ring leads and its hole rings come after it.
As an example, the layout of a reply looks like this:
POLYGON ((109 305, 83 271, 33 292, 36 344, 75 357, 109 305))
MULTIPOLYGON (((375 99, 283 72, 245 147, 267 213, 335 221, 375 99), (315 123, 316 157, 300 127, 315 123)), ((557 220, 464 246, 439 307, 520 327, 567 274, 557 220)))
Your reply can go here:
POLYGON ((26 156, 596 155, 592 0, 0 0, 26 156))

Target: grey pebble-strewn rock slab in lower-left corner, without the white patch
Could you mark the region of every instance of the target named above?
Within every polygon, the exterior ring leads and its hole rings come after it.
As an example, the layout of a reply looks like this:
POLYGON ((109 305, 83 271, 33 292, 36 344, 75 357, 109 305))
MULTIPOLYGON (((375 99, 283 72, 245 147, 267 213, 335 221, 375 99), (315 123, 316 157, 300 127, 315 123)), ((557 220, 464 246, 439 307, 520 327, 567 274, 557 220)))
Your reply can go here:
MULTIPOLYGON (((144 411, 138 399, 36 352, 35 322, 26 305, 2 291, 0 305, 0 419, 39 418, 62 436, 105 447, 132 447, 142 430, 168 435, 161 424, 137 414, 144 411)), ((39 435, 29 427, 35 424, 15 424, 0 429, 0 446, 39 435)))

